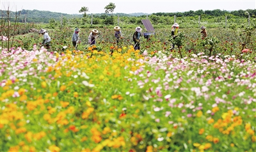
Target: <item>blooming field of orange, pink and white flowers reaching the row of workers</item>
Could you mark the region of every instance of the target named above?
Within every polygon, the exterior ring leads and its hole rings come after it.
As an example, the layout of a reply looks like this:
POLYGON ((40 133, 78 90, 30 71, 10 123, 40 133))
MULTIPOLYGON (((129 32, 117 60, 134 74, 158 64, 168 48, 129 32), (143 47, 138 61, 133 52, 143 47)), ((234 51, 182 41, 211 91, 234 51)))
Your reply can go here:
POLYGON ((167 29, 141 50, 129 31, 119 47, 99 31, 78 51, 71 30, 49 32, 51 51, 38 34, 23 36, 27 49, 1 48, 1 151, 255 151, 255 31, 241 50, 216 30, 209 57, 197 31, 183 29, 183 58, 167 29))

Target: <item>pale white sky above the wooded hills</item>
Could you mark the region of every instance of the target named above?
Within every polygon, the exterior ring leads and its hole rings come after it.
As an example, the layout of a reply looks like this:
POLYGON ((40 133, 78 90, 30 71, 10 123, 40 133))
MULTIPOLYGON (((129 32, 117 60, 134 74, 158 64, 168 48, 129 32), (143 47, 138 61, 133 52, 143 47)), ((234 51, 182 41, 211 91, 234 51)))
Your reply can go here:
POLYGON ((20 11, 20 10, 40 10, 52 11, 67 14, 79 13, 81 8, 87 7, 87 13, 105 13, 104 7, 109 3, 114 3, 116 8, 113 13, 174 13, 196 10, 247 10, 256 9, 256 0, 1 0, 1 10, 20 11))

